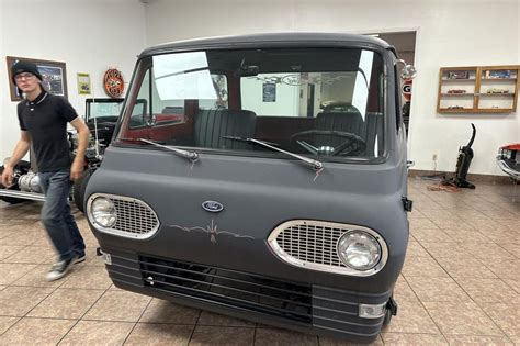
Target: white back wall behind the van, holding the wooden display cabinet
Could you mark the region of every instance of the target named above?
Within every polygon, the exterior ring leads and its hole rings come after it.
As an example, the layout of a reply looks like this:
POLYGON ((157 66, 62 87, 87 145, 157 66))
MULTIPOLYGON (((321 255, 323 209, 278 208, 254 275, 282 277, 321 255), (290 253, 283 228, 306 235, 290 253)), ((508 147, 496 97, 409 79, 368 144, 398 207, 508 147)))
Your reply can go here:
POLYGON ((416 169, 455 169, 459 146, 475 123, 470 172, 500 174, 500 145, 520 142, 520 119, 437 113, 442 66, 520 64, 518 0, 154 0, 146 4, 147 44, 257 32, 417 31, 410 121, 410 159, 416 169))

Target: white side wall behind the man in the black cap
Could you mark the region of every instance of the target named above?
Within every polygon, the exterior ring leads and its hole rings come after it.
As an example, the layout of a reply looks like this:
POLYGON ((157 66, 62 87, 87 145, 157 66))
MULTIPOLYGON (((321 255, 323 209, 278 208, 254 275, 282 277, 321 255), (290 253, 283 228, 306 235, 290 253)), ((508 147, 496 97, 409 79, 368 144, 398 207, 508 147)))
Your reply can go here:
POLYGON ((20 137, 5 56, 65 62, 68 99, 82 115, 87 97, 78 94, 76 74, 90 74, 95 97, 106 97, 104 71, 116 67, 129 81, 136 55, 146 46, 145 30, 144 4, 137 0, 0 0, 0 160, 20 137))

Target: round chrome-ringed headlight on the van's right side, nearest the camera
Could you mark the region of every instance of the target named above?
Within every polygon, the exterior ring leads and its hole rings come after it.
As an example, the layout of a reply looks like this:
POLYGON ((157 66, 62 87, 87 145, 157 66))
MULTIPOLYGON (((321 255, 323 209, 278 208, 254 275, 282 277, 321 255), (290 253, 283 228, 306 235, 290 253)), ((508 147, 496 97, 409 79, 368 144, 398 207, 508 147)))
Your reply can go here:
POLYGON ((381 259, 381 245, 364 231, 344 233, 338 241, 338 256, 341 261, 355 270, 374 268, 381 259))

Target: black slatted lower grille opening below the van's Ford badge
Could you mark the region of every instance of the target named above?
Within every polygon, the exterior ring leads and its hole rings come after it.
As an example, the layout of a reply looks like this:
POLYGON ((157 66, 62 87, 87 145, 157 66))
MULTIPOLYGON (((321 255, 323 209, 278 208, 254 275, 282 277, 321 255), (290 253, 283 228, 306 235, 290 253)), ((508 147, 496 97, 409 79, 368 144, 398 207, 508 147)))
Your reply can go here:
POLYGON ((312 287, 249 272, 140 256, 146 287, 310 324, 312 287))

